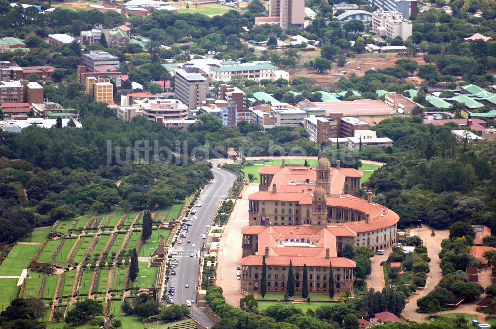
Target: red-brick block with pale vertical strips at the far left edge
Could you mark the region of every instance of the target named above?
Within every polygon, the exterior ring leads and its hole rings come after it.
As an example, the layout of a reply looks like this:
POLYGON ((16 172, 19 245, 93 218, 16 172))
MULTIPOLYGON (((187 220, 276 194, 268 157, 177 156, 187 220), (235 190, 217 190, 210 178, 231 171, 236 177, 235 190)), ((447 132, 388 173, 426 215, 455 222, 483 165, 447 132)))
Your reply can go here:
POLYGON ((43 87, 27 80, 0 81, 0 103, 43 102, 43 87))

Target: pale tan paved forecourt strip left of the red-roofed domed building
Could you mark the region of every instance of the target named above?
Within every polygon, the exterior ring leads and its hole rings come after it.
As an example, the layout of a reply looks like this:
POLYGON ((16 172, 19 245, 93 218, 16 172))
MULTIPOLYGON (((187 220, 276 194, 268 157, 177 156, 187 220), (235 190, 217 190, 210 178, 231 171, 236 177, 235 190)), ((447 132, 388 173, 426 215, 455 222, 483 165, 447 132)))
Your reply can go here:
POLYGON ((240 306, 241 281, 236 280, 236 267, 242 256, 241 230, 249 225, 248 196, 258 191, 258 184, 249 184, 243 189, 242 199, 237 200, 229 222, 222 235, 218 254, 216 285, 222 287, 226 302, 234 307, 240 306))

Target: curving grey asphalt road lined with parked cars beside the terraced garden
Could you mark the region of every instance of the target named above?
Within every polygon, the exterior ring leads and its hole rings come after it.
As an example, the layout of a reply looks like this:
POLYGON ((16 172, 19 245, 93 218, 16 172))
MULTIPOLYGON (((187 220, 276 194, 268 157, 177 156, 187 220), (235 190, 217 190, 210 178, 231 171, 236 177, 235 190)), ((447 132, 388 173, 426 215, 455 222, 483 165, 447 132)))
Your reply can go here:
MULTIPOLYGON (((170 276, 169 283, 169 286, 176 287, 176 292, 173 296, 175 304, 186 304, 186 300, 196 299, 196 287, 198 286, 200 273, 200 258, 197 255, 205 242, 203 235, 208 231, 207 225, 212 224, 219 203, 223 197, 227 196, 236 179, 235 174, 217 167, 214 167, 212 172, 214 180, 196 200, 196 203, 201 203, 202 206, 193 208, 196 210, 198 219, 188 221, 193 226, 190 226, 187 237, 181 238, 183 243, 176 244, 173 248, 173 251, 179 253, 179 255, 173 256, 173 258, 179 259, 179 265, 175 268, 177 274, 170 276), (188 240, 191 240, 191 242, 187 243, 188 240), (191 253, 195 254, 194 257, 190 256, 191 253), (189 285, 189 288, 185 287, 186 284, 189 285)), ((191 307, 191 317, 207 327, 213 326, 205 312, 199 310, 196 305, 191 307)))

